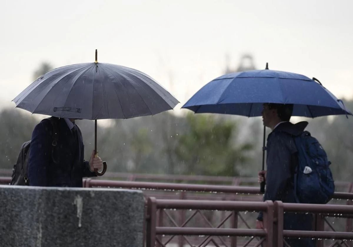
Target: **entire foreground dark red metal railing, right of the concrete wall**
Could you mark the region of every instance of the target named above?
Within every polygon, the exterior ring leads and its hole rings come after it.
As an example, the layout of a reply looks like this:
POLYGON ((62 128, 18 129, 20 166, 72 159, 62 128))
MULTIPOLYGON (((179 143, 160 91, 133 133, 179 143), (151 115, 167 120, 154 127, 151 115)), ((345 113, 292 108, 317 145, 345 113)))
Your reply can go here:
POLYGON ((285 212, 315 213, 316 217, 325 214, 338 214, 340 217, 352 217, 353 206, 350 205, 321 205, 321 204, 290 204, 281 201, 265 202, 245 202, 245 201, 203 201, 203 200, 165 200, 148 198, 146 216, 146 247, 161 246, 165 247, 175 236, 182 236, 190 246, 203 247, 208 244, 215 246, 237 246, 237 236, 251 236, 251 239, 243 243, 243 247, 257 239, 254 246, 289 246, 284 238, 313 238, 318 239, 317 246, 323 246, 321 239, 331 239, 330 246, 349 246, 346 241, 353 240, 353 232, 323 231, 318 229, 313 231, 284 230, 283 214, 285 212), (191 218, 196 215, 193 213, 181 224, 174 222, 174 227, 158 226, 157 211, 166 209, 173 210, 222 210, 231 213, 221 221, 215 228, 209 227, 186 227, 191 218), (240 211, 263 211, 264 229, 239 229, 237 228, 237 215, 240 211), (232 219, 231 228, 221 228, 222 224, 228 219, 232 219), (169 235, 165 241, 161 236, 169 235), (186 236, 196 235, 203 237, 203 240, 195 245, 186 236), (231 243, 228 245, 221 236, 231 236, 231 243), (217 238, 215 238, 217 237, 217 238))

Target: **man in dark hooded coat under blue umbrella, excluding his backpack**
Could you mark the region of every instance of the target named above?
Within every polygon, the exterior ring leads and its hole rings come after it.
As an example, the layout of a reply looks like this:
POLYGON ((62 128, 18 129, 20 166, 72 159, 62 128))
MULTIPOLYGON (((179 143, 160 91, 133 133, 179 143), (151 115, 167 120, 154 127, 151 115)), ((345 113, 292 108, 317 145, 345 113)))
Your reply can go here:
MULTIPOLYGON (((298 150, 293 136, 303 133, 307 122, 293 124, 289 122, 293 112, 293 104, 263 104, 262 120, 272 132, 267 138, 267 171, 259 171, 259 182, 266 177, 265 200, 296 203, 294 173, 298 165, 298 150)), ((286 230, 312 230, 310 214, 286 213, 283 227, 286 230)), ((262 212, 256 221, 256 228, 263 228, 262 212)), ((290 246, 315 246, 311 239, 288 239, 290 246)))

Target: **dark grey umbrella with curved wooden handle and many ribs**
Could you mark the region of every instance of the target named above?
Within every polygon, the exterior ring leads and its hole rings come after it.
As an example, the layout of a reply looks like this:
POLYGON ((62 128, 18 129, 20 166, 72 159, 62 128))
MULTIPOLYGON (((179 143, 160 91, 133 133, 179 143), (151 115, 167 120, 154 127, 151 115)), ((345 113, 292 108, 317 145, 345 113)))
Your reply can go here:
MULTIPOLYGON (((173 109, 179 101, 154 79, 132 68, 98 63, 56 68, 13 99, 16 107, 58 118, 127 119, 173 109)), ((106 170, 104 164, 103 175, 106 170)))

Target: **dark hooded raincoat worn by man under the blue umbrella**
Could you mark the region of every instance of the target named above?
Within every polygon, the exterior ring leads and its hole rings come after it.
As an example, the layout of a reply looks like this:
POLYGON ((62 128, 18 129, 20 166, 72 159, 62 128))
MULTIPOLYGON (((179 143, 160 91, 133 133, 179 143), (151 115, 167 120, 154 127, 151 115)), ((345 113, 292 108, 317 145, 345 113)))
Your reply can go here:
MULTIPOLYGON (((267 173, 265 200, 296 203, 294 191, 294 171, 298 165, 297 147, 293 137, 300 135, 307 122, 293 124, 280 123, 267 138, 267 173)), ((258 220, 262 220, 262 213, 258 220)), ((287 230, 311 230, 312 216, 305 214, 286 213, 283 228, 287 230)), ((291 246, 314 246, 311 239, 288 239, 291 246)))

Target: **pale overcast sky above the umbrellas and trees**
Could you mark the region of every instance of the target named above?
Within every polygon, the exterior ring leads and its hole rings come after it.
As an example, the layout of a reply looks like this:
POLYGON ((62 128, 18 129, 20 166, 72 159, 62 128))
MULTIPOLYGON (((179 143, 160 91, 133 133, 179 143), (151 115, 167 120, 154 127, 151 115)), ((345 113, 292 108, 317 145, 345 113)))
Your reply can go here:
POLYGON ((143 71, 182 104, 224 73, 227 53, 233 67, 250 53, 257 68, 316 77, 351 99, 352 10, 351 0, 2 1, 0 102, 14 107, 41 62, 94 62, 95 49, 98 62, 143 71))

